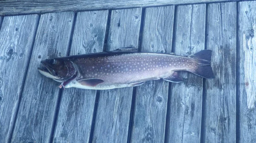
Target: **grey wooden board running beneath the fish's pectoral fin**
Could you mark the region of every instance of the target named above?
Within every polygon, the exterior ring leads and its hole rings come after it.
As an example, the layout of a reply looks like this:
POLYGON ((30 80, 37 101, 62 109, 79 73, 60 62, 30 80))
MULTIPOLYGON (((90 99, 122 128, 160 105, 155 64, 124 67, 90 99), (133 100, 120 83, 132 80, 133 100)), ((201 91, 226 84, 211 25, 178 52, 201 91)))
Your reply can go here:
MULTIPOLYGON (((107 20, 108 11, 78 12, 70 55, 102 52, 107 20)), ((63 91, 54 143, 89 142, 95 99, 96 90, 63 91)))

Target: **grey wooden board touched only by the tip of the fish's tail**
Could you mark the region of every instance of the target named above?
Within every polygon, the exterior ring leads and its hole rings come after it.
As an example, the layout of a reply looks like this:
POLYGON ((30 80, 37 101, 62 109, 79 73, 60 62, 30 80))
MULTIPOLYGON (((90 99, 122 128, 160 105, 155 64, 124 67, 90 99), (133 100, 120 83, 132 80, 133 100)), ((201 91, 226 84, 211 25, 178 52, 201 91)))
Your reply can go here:
POLYGON ((215 79, 205 85, 204 142, 236 143, 236 3, 209 4, 207 17, 215 79))

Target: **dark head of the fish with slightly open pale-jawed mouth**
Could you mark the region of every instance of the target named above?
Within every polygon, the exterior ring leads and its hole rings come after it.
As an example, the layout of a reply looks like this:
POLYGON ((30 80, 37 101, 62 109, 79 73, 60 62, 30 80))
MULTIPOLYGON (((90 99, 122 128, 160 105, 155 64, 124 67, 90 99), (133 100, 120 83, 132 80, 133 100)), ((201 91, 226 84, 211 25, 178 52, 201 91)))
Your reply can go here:
POLYGON ((44 76, 58 82, 64 82, 71 79, 76 74, 76 68, 70 60, 66 59, 45 59, 41 61, 44 67, 38 67, 38 70, 44 76))

